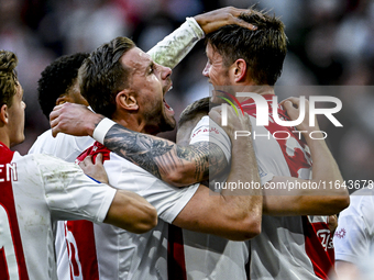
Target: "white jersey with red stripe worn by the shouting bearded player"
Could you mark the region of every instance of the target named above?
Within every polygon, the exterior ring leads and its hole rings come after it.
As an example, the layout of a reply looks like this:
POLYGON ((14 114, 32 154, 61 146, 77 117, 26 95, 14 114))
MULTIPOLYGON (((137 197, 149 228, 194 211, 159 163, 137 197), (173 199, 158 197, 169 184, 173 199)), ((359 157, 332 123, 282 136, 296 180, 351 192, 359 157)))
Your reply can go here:
POLYGON ((134 191, 153 204, 158 225, 145 234, 133 234, 111 225, 66 222, 70 272, 76 279, 167 279, 167 223, 172 223, 193 198, 199 184, 175 188, 141 167, 95 143, 79 156, 103 155, 109 184, 134 191), (79 269, 78 269, 79 268, 79 269))

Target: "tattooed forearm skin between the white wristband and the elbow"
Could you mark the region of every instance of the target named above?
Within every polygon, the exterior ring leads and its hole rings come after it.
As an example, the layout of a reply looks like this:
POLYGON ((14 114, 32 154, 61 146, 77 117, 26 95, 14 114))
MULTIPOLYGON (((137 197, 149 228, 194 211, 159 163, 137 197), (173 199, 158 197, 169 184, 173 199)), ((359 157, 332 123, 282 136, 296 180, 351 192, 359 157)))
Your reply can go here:
POLYGON ((198 182, 221 173, 228 166, 223 152, 216 144, 200 142, 188 147, 177 146, 173 142, 136 133, 119 124, 109 130, 105 145, 160 179, 164 179, 173 169, 180 170, 183 167, 182 176, 190 177, 187 178, 190 183, 198 182))

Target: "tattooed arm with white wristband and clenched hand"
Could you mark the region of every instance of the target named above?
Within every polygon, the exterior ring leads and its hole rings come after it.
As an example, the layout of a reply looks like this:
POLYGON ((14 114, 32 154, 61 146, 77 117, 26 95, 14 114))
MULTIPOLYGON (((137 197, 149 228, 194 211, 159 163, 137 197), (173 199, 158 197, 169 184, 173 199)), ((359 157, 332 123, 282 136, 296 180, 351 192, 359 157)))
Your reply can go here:
POLYGON ((226 170, 228 163, 218 145, 207 142, 187 147, 156 136, 130 131, 84 105, 64 103, 51 113, 53 135, 59 132, 92 136, 119 156, 173 186, 189 186, 226 170), (95 131, 95 133, 94 133, 95 131))

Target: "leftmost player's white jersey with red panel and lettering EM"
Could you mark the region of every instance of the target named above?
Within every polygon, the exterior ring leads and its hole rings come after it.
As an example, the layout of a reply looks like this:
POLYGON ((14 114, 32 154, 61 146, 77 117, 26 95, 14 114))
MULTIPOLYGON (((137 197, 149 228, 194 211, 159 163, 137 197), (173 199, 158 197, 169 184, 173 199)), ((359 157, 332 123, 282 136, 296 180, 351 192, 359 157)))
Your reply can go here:
POLYGON ((57 220, 101 223, 116 190, 46 155, 21 156, 0 143, 0 254, 6 279, 57 279, 57 220), (8 277, 7 277, 8 276, 8 277))

